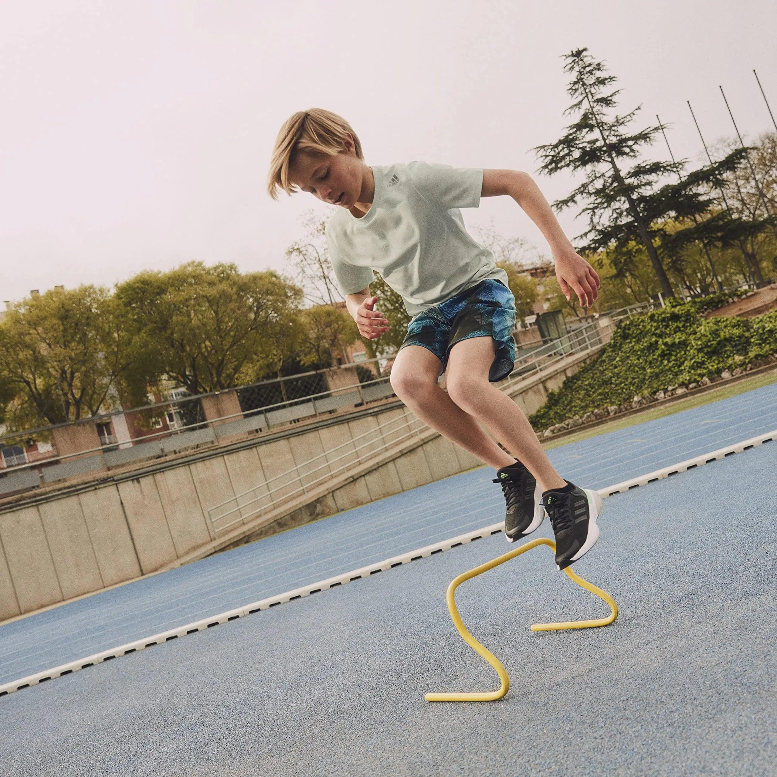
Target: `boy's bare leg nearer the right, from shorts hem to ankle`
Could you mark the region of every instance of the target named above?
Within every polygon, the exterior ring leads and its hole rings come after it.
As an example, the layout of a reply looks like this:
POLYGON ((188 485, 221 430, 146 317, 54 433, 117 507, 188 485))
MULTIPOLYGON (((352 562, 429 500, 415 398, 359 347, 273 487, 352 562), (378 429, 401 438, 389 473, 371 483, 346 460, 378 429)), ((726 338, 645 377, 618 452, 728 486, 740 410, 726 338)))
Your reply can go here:
POLYGON ((495 352, 492 337, 469 337, 455 343, 445 371, 448 397, 512 451, 543 491, 563 488, 566 481, 553 469, 528 418, 509 396, 489 382, 495 352))

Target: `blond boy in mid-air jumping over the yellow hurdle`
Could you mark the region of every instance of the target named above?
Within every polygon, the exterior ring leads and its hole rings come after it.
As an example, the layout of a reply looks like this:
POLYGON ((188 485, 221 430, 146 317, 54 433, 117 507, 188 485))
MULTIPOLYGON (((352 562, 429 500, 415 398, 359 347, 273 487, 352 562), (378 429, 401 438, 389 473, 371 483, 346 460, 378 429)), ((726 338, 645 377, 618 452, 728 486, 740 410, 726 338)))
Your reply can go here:
POLYGON ((402 295, 413 319, 391 371, 395 394, 416 416, 497 469, 507 500, 504 532, 515 542, 549 514, 556 566, 580 559, 599 536, 601 499, 553 469, 528 419, 496 383, 514 367, 515 298, 507 273, 465 229, 459 208, 509 194, 548 240, 556 277, 591 306, 599 277, 575 252, 549 204, 525 172, 455 169, 409 162, 364 163, 350 124, 320 108, 294 113, 280 128, 268 193, 297 190, 338 207, 326 227, 329 258, 350 315, 364 337, 389 329, 370 295, 373 269, 402 295), (446 373, 447 393, 437 383, 446 373), (518 458, 510 457, 478 421, 518 458))

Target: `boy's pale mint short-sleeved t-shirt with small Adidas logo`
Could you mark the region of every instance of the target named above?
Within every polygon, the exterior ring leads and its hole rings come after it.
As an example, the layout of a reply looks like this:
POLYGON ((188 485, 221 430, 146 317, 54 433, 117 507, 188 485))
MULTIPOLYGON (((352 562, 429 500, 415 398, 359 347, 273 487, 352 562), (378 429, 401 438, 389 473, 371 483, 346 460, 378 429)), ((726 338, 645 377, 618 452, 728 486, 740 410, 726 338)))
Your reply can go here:
POLYGON ((483 169, 407 162, 371 166, 375 199, 362 218, 338 208, 326 225, 340 293, 363 291, 378 270, 409 315, 484 278, 507 286, 493 253, 466 231, 462 207, 478 207, 483 169))

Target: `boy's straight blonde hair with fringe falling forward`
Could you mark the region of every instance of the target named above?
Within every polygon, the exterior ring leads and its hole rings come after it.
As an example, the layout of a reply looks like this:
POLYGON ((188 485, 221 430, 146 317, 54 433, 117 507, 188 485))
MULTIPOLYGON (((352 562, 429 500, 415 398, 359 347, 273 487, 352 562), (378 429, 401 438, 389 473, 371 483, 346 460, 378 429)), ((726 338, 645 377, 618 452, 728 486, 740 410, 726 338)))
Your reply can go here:
POLYGON ((282 189, 289 197, 300 191, 289 181, 289 166, 297 152, 313 156, 335 156, 343 151, 345 134, 350 132, 358 159, 364 161, 361 142, 350 124, 329 110, 310 108, 298 110, 286 121, 275 138, 270 172, 267 174, 267 193, 277 200, 277 190, 282 189))

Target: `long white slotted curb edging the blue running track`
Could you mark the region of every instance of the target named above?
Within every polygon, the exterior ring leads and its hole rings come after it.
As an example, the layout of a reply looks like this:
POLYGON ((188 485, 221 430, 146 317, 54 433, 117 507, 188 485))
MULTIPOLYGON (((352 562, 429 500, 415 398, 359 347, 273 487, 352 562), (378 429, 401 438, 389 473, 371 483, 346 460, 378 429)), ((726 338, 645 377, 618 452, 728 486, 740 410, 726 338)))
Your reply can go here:
MULTIPOLYGON (((758 437, 751 437, 749 440, 744 440, 733 445, 729 445, 726 448, 718 448, 716 451, 696 456, 695 458, 688 458, 685 462, 674 464, 663 469, 657 469, 655 472, 649 472, 646 475, 641 475, 631 480, 624 480, 622 483, 617 483, 615 486, 609 486, 605 489, 599 490, 599 496, 603 499, 607 497, 615 496, 616 493, 623 493, 630 491, 639 486, 646 486, 648 483, 656 483, 658 480, 677 475, 679 472, 687 472, 688 469, 695 469, 696 467, 716 462, 721 458, 733 455, 735 453, 741 453, 747 451, 750 448, 756 448, 758 445, 762 445, 766 442, 777 440, 777 430, 767 432, 766 434, 760 434, 758 437)), ((503 529, 503 521, 498 524, 491 524, 490 526, 484 526, 483 528, 476 529, 475 531, 469 531, 467 534, 458 535, 458 537, 451 537, 450 539, 442 542, 436 542, 434 545, 427 545, 426 547, 419 548, 417 550, 410 551, 408 553, 402 553, 401 556, 393 556, 391 559, 385 559, 368 566, 362 566, 360 569, 353 570, 336 577, 329 577, 326 580, 321 580, 318 583, 312 583, 301 588, 295 588, 294 591, 287 591, 285 594, 277 594, 267 599, 261 599, 260 601, 254 601, 249 605, 235 608, 234 610, 228 610, 221 612, 218 615, 213 615, 211 618, 203 618, 199 621, 187 623, 186 625, 179 626, 176 629, 169 629, 153 636, 145 637, 145 639, 136 639, 134 642, 129 642, 126 645, 120 645, 118 647, 110 648, 110 650, 103 650, 102 653, 94 653, 92 656, 85 658, 79 658, 75 661, 70 661, 68 664, 61 664, 61 666, 54 667, 53 669, 47 669, 36 674, 30 674, 26 678, 19 678, 19 680, 12 680, 0 685, 0 696, 19 691, 22 688, 28 688, 30 685, 38 685, 41 682, 52 680, 53 678, 61 677, 63 674, 71 674, 79 669, 85 669, 86 667, 92 667, 95 664, 102 664, 103 661, 108 661, 119 656, 126 656, 127 653, 136 653, 138 650, 144 650, 146 647, 152 645, 159 645, 161 643, 169 642, 172 639, 178 639, 181 636, 187 634, 193 634, 194 632, 204 631, 204 629, 210 629, 214 625, 219 623, 226 623, 228 621, 234 621, 236 618, 242 618, 245 615, 251 615, 254 612, 261 610, 267 610, 270 607, 276 605, 282 605, 287 601, 294 601, 305 596, 311 596, 312 594, 319 594, 321 591, 326 591, 328 588, 334 588, 346 583, 353 582, 354 580, 360 580, 362 577, 370 577, 379 572, 389 570, 392 566, 401 566, 402 564, 416 561, 417 559, 423 559, 427 556, 432 556, 434 553, 441 553, 444 550, 456 548, 458 545, 465 545, 467 542, 475 542, 475 540, 488 537, 489 535, 499 534, 503 529)))

